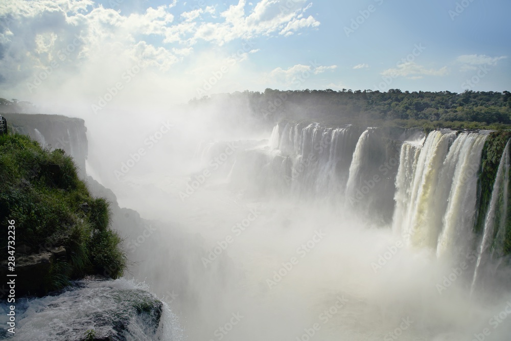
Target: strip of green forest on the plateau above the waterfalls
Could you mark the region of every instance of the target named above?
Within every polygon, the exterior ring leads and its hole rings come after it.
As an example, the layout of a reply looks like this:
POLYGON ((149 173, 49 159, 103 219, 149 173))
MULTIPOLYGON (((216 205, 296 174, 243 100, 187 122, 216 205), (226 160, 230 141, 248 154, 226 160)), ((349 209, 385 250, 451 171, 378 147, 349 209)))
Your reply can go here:
POLYGON ((505 129, 511 124, 511 93, 388 92, 343 89, 221 94, 194 99, 195 106, 218 101, 245 102, 253 117, 274 123, 309 119, 329 124, 393 125, 452 129, 505 129))

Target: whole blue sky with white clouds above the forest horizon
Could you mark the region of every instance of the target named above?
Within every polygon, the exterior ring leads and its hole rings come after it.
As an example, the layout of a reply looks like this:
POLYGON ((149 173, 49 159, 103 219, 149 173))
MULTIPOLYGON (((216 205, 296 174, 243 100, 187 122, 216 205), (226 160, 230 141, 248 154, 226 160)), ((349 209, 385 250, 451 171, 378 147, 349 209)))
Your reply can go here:
POLYGON ((503 0, 2 0, 0 97, 97 113, 266 88, 502 92, 510 12, 503 0))

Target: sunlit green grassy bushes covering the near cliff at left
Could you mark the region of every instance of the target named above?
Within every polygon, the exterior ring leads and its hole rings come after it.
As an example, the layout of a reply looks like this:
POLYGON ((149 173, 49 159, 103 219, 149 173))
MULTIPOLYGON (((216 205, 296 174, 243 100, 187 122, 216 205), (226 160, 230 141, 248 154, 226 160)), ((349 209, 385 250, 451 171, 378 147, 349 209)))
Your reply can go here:
MULTIPOLYGON (((70 279, 99 274, 123 275, 127 257, 122 239, 108 228, 109 203, 93 198, 63 150, 42 149, 25 135, 0 136, 0 229, 14 219, 16 247, 32 253, 64 246, 67 257, 51 264, 49 289, 70 279)), ((7 255, 7 233, 1 250, 7 255)))

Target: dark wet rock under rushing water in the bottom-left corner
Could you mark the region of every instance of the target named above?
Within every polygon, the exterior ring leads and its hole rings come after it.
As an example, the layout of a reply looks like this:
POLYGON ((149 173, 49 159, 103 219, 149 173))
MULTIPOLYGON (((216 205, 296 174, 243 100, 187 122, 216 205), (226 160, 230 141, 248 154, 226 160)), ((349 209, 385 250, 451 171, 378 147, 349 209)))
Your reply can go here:
POLYGON ((164 326, 168 308, 126 280, 87 279, 59 295, 17 304, 17 329, 10 340, 175 339, 164 326))

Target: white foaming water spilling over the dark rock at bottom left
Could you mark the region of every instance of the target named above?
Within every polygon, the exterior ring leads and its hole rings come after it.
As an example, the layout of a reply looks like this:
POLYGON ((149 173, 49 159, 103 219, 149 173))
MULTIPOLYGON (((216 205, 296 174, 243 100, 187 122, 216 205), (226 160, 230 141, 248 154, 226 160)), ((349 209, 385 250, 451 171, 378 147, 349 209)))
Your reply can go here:
MULTIPOLYGON (((117 335, 126 340, 184 340, 176 316, 164 304, 159 325, 151 316, 123 315, 127 307, 120 301, 127 299, 123 290, 147 290, 146 285, 119 279, 115 281, 80 281, 59 295, 23 299, 16 302, 16 330, 10 340, 70 341, 82 340, 89 330, 96 337, 117 335), (127 329, 115 331, 112 316, 126 318, 127 329), (155 328, 156 327, 156 328, 155 328)), ((154 297, 154 299, 156 299, 154 297)), ((0 308, 7 312, 6 304, 0 308)), ((7 316, 3 313, 2 316, 7 316)), ((5 317, 4 323, 7 325, 5 317)))

